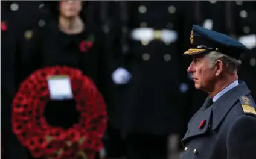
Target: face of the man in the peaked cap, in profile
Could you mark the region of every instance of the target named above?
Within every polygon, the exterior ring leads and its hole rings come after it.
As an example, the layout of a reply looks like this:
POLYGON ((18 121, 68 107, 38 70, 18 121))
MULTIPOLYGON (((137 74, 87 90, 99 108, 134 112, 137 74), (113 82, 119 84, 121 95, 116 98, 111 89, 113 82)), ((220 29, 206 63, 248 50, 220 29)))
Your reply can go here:
POLYGON ((196 89, 211 92, 216 80, 215 70, 210 67, 208 60, 203 55, 195 55, 187 70, 192 74, 196 89))

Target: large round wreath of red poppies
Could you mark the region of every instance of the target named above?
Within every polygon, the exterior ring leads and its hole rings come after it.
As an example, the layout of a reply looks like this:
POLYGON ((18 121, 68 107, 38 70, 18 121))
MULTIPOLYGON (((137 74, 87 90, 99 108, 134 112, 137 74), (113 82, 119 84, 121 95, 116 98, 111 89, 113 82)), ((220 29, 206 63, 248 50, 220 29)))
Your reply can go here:
MULTIPOLYGON (((70 106, 70 102, 66 103, 70 106)), ((92 159, 103 147, 101 139, 107 122, 106 105, 91 78, 78 69, 56 66, 36 70, 21 83, 13 99, 12 113, 14 134, 35 158, 92 159), (47 107, 50 111, 49 108, 57 105, 50 107, 48 104, 51 100, 47 79, 53 75, 68 75, 71 81, 73 108, 80 114, 76 115, 77 122, 69 127, 56 125, 61 123, 56 122, 61 119, 56 116, 62 114, 65 107, 56 108, 55 114, 45 112, 47 107), (56 122, 55 125, 48 119, 53 117, 51 120, 56 122)), ((75 117, 68 113, 64 116, 66 122, 75 117)))

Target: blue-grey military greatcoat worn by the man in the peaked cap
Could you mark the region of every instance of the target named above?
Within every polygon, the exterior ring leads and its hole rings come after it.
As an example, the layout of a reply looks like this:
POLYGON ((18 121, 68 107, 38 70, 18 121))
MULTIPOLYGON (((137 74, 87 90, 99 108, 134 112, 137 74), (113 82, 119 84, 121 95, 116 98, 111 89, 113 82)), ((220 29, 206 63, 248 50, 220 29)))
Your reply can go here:
POLYGON ((207 108, 209 99, 188 123, 182 158, 254 159, 256 104, 246 84, 240 81, 207 108))

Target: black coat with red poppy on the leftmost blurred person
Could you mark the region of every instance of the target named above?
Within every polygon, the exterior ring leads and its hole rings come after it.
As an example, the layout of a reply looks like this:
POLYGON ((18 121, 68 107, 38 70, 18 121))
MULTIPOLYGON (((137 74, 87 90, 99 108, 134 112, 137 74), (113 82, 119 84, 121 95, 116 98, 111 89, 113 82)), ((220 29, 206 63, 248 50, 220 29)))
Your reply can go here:
POLYGON ((1 148, 4 150, 1 157, 26 159, 25 148, 18 142, 11 129, 11 101, 15 93, 14 72, 18 36, 9 18, 8 14, 1 12, 1 148))

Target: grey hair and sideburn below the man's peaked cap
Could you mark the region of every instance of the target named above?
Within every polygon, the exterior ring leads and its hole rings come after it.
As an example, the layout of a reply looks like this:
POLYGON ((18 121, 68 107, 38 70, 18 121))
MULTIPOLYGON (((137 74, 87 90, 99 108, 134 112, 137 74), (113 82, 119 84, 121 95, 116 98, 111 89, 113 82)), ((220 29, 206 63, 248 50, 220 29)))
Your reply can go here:
POLYGON ((217 60, 222 61, 228 73, 231 74, 236 74, 239 70, 240 64, 242 63, 240 60, 237 60, 233 57, 229 57, 228 55, 222 54, 217 51, 212 51, 205 57, 208 59, 209 66, 211 68, 214 67, 217 60))

